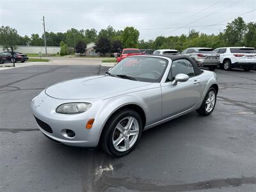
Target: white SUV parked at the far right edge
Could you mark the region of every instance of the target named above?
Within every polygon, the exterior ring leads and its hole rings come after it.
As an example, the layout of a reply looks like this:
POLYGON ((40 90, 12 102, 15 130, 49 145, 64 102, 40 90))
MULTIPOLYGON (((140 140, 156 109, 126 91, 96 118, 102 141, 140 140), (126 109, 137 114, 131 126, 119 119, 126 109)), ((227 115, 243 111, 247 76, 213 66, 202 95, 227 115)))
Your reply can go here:
POLYGON ((220 67, 225 70, 243 68, 249 71, 256 68, 256 51, 253 47, 220 47, 215 51, 220 54, 220 67))

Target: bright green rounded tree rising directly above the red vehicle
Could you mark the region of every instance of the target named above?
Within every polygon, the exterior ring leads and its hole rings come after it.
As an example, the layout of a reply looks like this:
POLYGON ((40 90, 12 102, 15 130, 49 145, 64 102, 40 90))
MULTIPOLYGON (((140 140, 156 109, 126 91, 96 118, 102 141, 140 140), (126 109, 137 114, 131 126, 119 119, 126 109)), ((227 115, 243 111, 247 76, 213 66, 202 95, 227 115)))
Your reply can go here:
POLYGON ((135 48, 138 47, 138 39, 140 32, 134 27, 126 27, 122 33, 122 40, 124 48, 135 48))

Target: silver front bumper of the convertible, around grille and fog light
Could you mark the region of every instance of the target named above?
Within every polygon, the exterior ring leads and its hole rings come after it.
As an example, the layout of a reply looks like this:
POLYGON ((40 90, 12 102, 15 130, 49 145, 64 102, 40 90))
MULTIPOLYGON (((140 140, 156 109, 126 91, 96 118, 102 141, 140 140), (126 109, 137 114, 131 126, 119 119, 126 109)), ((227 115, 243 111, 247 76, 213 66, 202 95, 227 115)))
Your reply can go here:
MULTIPOLYGON (((90 108, 88 111, 76 115, 64 115, 56 113, 56 108, 60 104, 66 102, 74 102, 70 100, 54 99, 45 94, 40 93, 31 101, 31 111, 35 118, 40 131, 54 141, 58 141, 65 145, 76 147, 96 147, 99 143, 101 123, 97 119, 93 122, 91 129, 86 129, 86 123, 91 118, 95 118, 97 111, 90 108), (41 123, 38 123, 38 120, 41 123), (51 127, 52 131, 45 129, 45 126, 51 127), (65 134, 65 130, 72 130, 76 136, 69 138, 65 134)), ((76 102, 79 102, 76 100, 76 102)), ((84 102, 84 101, 81 101, 84 102)), ((96 107, 97 104, 95 104, 96 107)), ((48 128, 49 128, 48 127, 48 128)))

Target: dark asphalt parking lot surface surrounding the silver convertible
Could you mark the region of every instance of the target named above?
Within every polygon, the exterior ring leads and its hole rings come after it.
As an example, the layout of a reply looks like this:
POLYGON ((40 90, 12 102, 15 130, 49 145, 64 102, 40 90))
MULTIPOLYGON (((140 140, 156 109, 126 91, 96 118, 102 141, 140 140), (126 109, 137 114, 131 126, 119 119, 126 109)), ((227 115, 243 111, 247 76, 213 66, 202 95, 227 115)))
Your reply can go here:
POLYGON ((58 145, 37 129, 33 97, 100 65, 0 71, 0 191, 256 191, 256 71, 216 70, 212 115, 189 113, 143 132, 131 154, 58 145))

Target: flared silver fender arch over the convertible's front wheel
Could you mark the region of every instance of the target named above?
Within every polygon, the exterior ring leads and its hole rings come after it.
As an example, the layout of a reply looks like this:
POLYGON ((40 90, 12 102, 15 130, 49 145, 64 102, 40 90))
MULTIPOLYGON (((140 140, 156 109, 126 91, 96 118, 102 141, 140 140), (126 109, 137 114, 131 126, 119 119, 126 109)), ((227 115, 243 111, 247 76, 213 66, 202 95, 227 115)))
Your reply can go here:
POLYGON ((140 106, 145 112, 146 119, 147 119, 148 106, 145 103, 145 101, 140 97, 137 97, 135 95, 120 95, 118 97, 113 97, 113 98, 104 100, 104 104, 96 114, 95 122, 93 123, 93 127, 94 126, 98 127, 97 131, 99 132, 97 143, 99 143, 102 129, 104 128, 109 117, 113 115, 113 113, 115 113, 115 111, 117 111, 118 109, 129 104, 136 104, 140 106))

